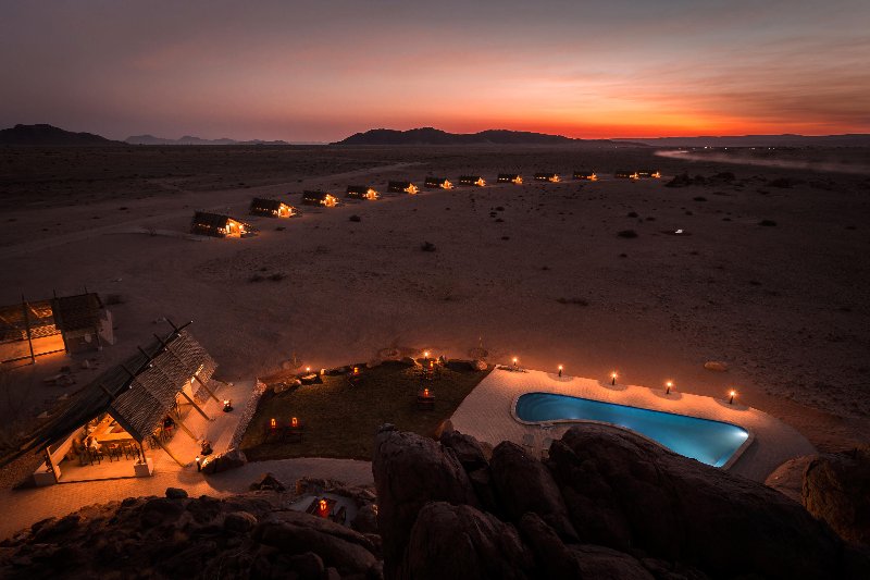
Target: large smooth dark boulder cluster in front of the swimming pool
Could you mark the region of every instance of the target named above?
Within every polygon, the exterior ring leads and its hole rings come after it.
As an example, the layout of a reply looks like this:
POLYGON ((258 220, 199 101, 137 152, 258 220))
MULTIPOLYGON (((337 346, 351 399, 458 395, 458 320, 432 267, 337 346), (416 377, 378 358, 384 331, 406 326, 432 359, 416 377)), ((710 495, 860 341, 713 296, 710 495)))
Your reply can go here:
POLYGON ((546 462, 509 442, 382 428, 385 577, 870 578, 870 559, 779 492, 606 425, 546 462))

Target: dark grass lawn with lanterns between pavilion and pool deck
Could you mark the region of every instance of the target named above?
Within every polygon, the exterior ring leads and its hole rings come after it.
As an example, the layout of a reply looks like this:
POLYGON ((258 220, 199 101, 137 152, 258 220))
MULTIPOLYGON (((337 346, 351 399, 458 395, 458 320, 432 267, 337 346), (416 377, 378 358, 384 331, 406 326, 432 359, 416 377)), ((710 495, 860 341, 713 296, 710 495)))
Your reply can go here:
POLYGON ((287 457, 371 460, 381 424, 393 423, 402 431, 432 436, 488 372, 442 368, 438 379, 423 381, 414 368, 384 363, 364 369, 358 386, 350 386, 344 375, 324 375, 323 384, 302 385, 277 395, 270 388, 260 399, 241 449, 252 461, 287 457), (417 395, 424 386, 436 397, 434 408, 427 410, 417 405, 417 395), (264 441, 270 419, 287 424, 290 417, 304 424, 301 443, 276 437, 264 441))

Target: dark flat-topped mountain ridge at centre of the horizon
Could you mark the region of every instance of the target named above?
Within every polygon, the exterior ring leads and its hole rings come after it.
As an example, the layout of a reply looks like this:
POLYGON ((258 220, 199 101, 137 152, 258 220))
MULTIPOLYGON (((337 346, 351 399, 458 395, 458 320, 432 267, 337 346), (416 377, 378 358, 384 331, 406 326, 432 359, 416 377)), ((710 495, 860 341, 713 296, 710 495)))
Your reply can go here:
MULTIPOLYGON (((480 133, 447 133, 434 127, 395 131, 373 128, 357 133, 332 145, 566 145, 611 143, 607 139, 572 139, 527 131, 489 129, 480 133)), ((626 144, 627 145, 627 144, 626 144)))

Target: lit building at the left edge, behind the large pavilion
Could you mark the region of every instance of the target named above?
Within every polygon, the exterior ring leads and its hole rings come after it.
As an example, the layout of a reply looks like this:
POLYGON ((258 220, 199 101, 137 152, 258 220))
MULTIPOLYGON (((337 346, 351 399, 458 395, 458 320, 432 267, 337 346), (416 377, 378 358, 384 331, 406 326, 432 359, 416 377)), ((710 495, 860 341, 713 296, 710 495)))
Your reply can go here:
POLYGON ((96 293, 0 307, 0 363, 35 363, 37 357, 100 350, 114 344, 112 313, 96 293))

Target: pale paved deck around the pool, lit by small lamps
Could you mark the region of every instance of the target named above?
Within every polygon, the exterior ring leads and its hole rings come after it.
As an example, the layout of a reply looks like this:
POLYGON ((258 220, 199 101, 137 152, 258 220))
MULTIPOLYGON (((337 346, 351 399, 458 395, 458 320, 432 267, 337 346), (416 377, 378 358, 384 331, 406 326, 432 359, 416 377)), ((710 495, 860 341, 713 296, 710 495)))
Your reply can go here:
POLYGON ((726 399, 679 391, 666 395, 663 388, 620 383, 611 385, 594 379, 522 370, 524 372, 496 368, 490 372, 453 412, 450 418, 453 429, 490 445, 501 441, 522 444, 523 435, 532 435, 535 442, 533 452, 539 454, 545 437, 557 440, 576 423, 554 422, 550 428, 523 424, 513 417, 513 406, 524 393, 556 393, 742 427, 754 440, 728 467, 728 471, 756 481, 765 481, 768 474, 788 459, 816 453, 810 442, 794 428, 737 400, 731 405, 726 399))

